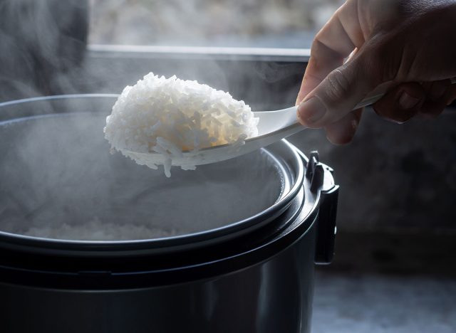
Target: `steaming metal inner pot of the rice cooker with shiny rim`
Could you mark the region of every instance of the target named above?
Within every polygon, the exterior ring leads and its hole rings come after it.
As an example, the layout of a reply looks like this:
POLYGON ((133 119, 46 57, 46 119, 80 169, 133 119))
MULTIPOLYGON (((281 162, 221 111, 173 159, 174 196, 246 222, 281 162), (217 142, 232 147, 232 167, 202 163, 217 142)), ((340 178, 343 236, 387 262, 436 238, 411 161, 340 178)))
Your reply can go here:
POLYGON ((0 233, 85 243, 213 240, 261 227, 296 196, 301 159, 284 142, 195 171, 174 167, 170 179, 161 167, 110 154, 103 127, 115 98, 0 106, 0 233))

